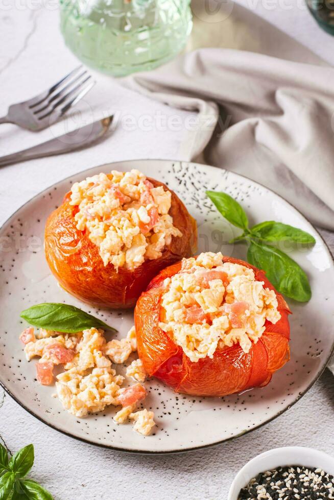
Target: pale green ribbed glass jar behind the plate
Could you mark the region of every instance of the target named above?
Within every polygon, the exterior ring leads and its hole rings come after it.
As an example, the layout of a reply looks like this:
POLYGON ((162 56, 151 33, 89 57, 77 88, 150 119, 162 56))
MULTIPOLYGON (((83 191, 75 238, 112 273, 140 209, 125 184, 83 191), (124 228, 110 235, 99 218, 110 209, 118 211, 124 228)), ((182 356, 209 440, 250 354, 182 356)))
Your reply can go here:
POLYGON ((190 0, 60 0, 66 45, 87 66, 116 77, 153 69, 184 47, 190 0))

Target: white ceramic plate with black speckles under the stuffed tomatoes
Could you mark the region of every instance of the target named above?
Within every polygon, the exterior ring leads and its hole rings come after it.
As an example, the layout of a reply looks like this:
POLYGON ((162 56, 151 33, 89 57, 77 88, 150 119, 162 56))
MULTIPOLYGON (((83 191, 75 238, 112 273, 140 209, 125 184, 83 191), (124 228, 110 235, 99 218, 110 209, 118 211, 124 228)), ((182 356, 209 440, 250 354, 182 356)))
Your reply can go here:
MULTIPOLYGON (((236 231, 236 230, 233 230, 236 231)), ((235 233, 237 235, 237 233, 235 233)), ((20 208, 0 231, 0 382, 16 401, 55 429, 89 443, 141 453, 179 452, 223 442, 249 432, 294 404, 319 377, 334 344, 334 268, 329 251, 305 218, 282 198, 246 178, 218 168, 172 161, 118 162, 89 169, 38 194, 20 208), (54 387, 35 380, 35 361, 25 360, 18 335, 22 309, 40 302, 66 302, 82 307, 56 283, 43 254, 43 230, 47 215, 60 205, 75 181, 100 171, 138 168, 175 190, 199 226, 199 251, 221 251, 245 259, 246 246, 231 246, 232 228, 205 196, 206 189, 226 191, 247 211, 251 223, 275 219, 313 234, 317 244, 303 252, 291 252, 308 273, 313 298, 308 304, 291 303, 291 361, 274 374, 271 383, 224 398, 175 394, 156 380, 146 383, 145 407, 155 413, 153 435, 142 437, 132 425, 117 426, 114 407, 79 419, 63 410, 52 397, 54 387)), ((133 324, 133 312, 91 309, 119 330, 123 337, 133 324)))

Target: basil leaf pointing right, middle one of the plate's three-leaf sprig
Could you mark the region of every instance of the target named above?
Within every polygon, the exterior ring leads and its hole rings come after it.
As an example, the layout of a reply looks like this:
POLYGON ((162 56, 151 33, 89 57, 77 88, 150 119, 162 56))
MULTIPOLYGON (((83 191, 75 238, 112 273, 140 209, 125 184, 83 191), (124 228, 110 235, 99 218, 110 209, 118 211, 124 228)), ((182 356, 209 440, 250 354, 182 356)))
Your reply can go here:
POLYGON ((295 241, 296 243, 302 243, 305 245, 314 245, 316 243, 314 237, 311 234, 306 233, 306 231, 294 228, 288 224, 275 222, 274 220, 267 220, 266 222, 256 224, 256 226, 253 226, 250 231, 257 238, 266 241, 295 241))

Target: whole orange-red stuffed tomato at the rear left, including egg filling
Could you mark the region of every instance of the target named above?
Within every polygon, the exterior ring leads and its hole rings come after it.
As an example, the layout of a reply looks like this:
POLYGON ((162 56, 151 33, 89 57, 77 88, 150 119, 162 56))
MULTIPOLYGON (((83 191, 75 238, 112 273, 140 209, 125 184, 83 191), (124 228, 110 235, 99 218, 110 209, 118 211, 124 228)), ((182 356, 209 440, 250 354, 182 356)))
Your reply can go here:
POLYGON ((138 170, 75 183, 46 221, 45 255, 84 302, 133 307, 166 266, 192 255, 196 222, 177 195, 138 170))

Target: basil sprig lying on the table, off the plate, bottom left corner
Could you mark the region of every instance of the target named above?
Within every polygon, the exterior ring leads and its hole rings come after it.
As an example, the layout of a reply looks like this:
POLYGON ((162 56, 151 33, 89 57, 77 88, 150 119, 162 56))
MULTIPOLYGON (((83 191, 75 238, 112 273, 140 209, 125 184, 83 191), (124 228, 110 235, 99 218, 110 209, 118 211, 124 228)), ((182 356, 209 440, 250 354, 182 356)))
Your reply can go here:
POLYGON ((34 445, 28 444, 8 461, 7 450, 0 444, 0 500, 53 500, 49 491, 26 479, 34 458, 34 445))

